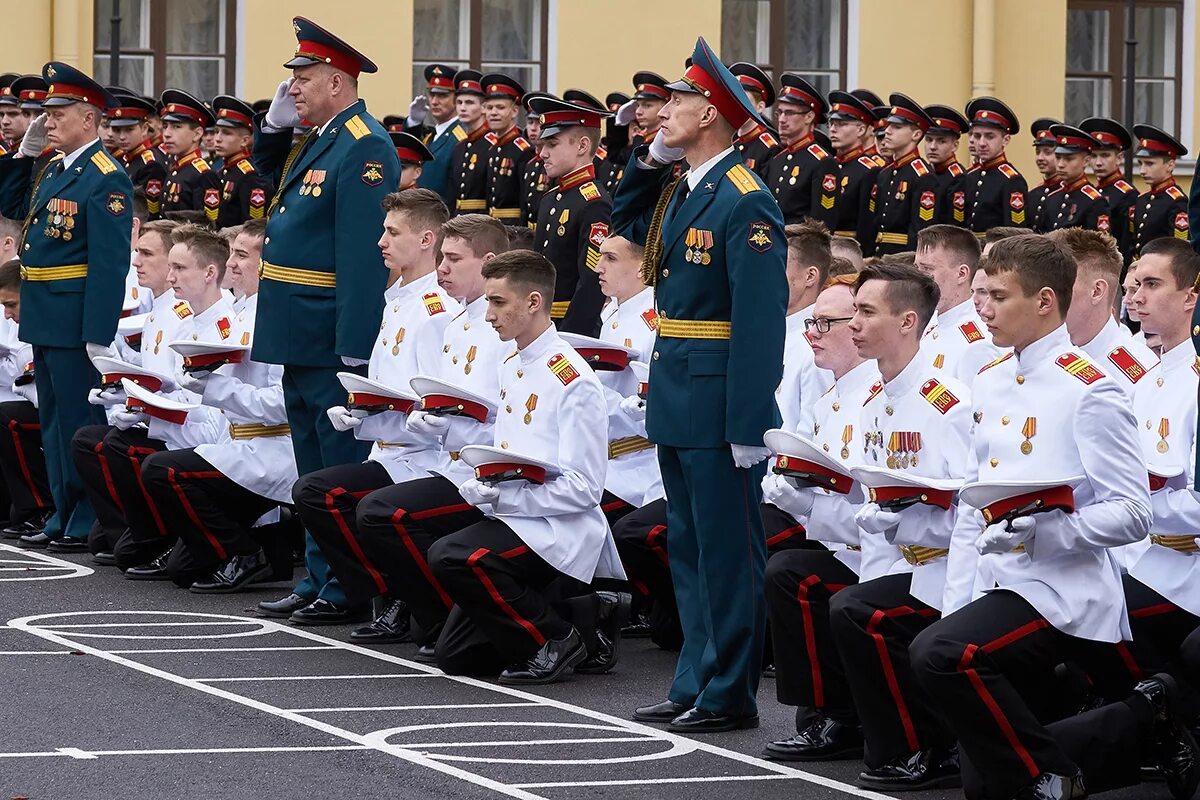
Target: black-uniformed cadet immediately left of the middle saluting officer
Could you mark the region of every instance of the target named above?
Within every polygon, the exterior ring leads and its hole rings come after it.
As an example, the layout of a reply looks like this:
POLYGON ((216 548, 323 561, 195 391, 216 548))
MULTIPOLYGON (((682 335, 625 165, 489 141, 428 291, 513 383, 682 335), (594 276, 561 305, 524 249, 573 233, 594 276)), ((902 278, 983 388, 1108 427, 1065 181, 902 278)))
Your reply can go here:
POLYGON ((222 166, 209 172, 204 213, 217 228, 262 219, 266 204, 275 196, 275 186, 250 160, 254 144, 254 109, 236 97, 218 95, 212 100, 212 112, 217 118, 214 148, 222 166))

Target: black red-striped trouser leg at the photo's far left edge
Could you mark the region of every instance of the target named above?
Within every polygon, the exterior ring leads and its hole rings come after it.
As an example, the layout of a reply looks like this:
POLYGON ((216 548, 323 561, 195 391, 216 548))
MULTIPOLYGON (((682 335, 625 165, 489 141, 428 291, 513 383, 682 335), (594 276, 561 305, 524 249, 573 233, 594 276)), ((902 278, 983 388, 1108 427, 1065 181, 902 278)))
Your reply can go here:
POLYGON ((10 523, 29 522, 54 510, 42 425, 37 408, 28 401, 0 403, 0 473, 11 500, 10 523))

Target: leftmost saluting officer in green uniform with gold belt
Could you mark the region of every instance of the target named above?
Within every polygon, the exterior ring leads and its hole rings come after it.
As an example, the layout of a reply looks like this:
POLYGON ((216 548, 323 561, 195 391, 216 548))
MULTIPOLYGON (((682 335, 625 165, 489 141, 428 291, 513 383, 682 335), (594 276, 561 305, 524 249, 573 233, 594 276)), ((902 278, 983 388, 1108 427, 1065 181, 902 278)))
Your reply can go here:
POLYGON ((89 353, 107 353, 130 271, 133 187, 98 138, 103 109, 116 101, 74 67, 50 61, 46 114, 30 125, 18 157, 0 160, 0 210, 24 218, 20 338, 34 345, 42 445, 54 516, 34 547, 86 551, 96 512, 71 461, 71 438, 104 422, 88 403, 97 375, 89 353), (36 156, 59 150, 30 191, 36 156))

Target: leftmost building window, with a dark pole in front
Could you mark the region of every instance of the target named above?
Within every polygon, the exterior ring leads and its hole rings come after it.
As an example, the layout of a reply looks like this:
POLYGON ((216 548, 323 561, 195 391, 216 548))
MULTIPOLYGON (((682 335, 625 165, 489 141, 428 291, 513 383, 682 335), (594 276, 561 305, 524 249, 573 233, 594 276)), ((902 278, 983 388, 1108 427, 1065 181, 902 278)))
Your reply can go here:
MULTIPOLYGON (((112 83, 114 0, 95 0, 95 65, 100 83, 112 83)), ((157 97, 182 89, 203 100, 232 92, 236 0, 115 0, 121 17, 116 83, 157 97)))

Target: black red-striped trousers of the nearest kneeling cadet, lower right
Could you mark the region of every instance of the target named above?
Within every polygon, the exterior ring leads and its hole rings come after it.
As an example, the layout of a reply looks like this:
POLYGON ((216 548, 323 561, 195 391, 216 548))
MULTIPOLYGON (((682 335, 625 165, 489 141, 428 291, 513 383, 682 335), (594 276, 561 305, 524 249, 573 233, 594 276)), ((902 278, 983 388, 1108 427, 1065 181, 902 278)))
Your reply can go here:
POLYGON ((968 796, 996 800, 1043 772, 1079 771, 1025 696, 1052 686, 1058 664, 1079 664, 1106 696, 1124 696, 1135 676, 1117 645, 1056 630, 1012 591, 989 593, 929 626, 910 652, 920 685, 970 760, 964 775, 978 786, 968 796))

